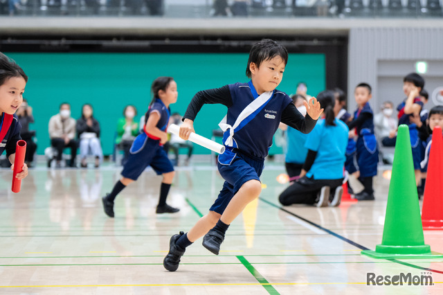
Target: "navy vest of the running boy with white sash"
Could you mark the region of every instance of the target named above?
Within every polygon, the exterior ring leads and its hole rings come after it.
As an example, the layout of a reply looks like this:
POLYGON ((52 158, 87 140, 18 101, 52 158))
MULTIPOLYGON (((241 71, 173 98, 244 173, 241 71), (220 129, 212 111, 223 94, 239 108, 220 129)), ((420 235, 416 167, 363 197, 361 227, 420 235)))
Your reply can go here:
MULTIPOLYGON (((232 126, 242 110, 259 95, 252 82, 229 84, 228 87, 233 105, 228 107, 226 123, 232 126)), ((253 157, 266 157, 272 145, 273 135, 280 124, 282 112, 289 103, 292 103, 291 98, 286 93, 275 89, 267 103, 235 128, 234 147, 253 157)), ((223 142, 228 136, 229 132, 224 132, 223 142)))

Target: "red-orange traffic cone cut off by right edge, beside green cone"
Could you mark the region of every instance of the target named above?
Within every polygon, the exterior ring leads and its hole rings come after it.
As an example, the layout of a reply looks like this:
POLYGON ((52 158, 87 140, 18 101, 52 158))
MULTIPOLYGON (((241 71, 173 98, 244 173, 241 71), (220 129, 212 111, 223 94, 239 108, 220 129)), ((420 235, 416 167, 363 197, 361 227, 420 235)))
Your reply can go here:
POLYGON ((423 229, 443 229, 443 136, 442 128, 433 129, 429 152, 428 174, 424 187, 422 224, 423 229))

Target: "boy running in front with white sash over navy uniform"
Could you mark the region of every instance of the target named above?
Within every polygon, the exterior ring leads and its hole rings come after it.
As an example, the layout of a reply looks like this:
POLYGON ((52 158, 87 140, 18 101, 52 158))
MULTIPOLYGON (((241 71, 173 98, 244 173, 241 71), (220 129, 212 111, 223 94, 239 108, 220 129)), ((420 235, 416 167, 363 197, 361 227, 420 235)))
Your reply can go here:
POLYGON ((304 133, 309 133, 316 125, 323 111, 316 98, 304 103, 307 115, 303 117, 286 93, 275 90, 282 80, 287 60, 286 48, 264 39, 253 45, 249 53, 246 75, 251 81, 199 91, 192 98, 180 127, 180 136, 186 140, 194 132, 195 116, 205 103, 221 103, 228 107, 228 114, 219 124, 224 130, 226 150, 219 155, 217 163, 226 181, 209 213, 188 233, 172 236, 170 251, 163 260, 165 269, 177 270, 186 247, 203 235, 204 247, 216 255, 219 253, 229 224, 260 195, 264 157, 280 121, 304 133))

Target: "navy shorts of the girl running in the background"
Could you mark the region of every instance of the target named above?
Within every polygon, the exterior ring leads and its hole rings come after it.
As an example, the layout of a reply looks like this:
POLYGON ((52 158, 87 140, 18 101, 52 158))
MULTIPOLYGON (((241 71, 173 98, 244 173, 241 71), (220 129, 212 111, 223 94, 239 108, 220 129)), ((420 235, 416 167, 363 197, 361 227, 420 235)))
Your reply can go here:
POLYGON ((127 163, 121 174, 123 177, 137 180, 147 166, 151 166, 157 175, 174 171, 168 154, 159 145, 159 141, 140 134, 132 143, 127 163))

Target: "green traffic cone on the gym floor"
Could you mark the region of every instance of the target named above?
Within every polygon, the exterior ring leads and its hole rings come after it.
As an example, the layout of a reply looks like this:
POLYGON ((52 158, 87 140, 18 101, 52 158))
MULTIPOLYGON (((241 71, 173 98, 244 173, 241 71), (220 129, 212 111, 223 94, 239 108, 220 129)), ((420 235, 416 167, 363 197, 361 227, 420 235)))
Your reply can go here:
POLYGON ((395 143, 383 240, 375 251, 361 251, 372 258, 442 258, 424 244, 409 127, 400 125, 395 143))

